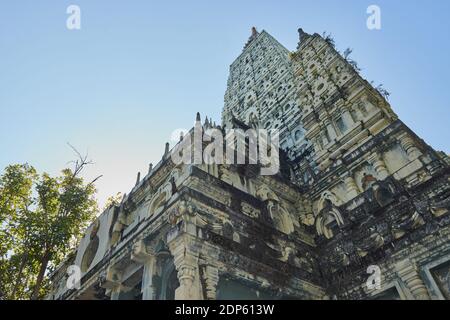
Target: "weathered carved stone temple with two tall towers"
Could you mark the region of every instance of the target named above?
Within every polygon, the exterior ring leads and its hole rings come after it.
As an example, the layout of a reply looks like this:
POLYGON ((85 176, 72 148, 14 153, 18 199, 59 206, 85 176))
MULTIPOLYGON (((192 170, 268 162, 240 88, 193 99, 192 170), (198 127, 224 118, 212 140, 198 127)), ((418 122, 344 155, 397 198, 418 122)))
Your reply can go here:
POLYGON ((299 35, 289 52, 254 29, 230 67, 222 126, 202 126, 279 130, 279 173, 175 165, 167 147, 51 275, 50 299, 450 297, 448 157, 330 39, 299 35), (79 287, 66 286, 71 265, 79 287))

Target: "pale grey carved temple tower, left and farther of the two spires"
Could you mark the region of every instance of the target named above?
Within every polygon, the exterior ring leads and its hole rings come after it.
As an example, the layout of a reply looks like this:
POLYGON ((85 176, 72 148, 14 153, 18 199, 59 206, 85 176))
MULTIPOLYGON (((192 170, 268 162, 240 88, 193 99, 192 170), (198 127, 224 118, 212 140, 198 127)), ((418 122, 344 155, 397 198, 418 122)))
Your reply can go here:
POLYGON ((277 130, 281 148, 294 160, 309 146, 297 96, 289 50, 266 31, 253 28, 243 52, 230 66, 224 126, 230 127, 235 117, 253 128, 277 130))

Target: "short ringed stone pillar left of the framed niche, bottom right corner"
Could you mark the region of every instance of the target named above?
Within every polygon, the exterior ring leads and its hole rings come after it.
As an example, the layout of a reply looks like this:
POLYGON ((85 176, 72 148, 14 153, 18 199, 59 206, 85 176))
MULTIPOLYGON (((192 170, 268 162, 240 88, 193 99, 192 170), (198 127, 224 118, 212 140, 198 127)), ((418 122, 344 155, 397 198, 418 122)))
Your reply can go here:
POLYGON ((429 300, 427 288, 417 271, 417 267, 409 259, 398 262, 395 269, 399 277, 416 300, 429 300))

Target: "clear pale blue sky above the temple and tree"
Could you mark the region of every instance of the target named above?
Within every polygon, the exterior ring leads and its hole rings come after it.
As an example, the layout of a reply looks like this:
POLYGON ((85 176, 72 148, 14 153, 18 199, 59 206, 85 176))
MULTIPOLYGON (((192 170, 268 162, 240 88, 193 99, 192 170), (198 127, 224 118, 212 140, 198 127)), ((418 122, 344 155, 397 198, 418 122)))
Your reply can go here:
POLYGON ((220 121, 228 67, 256 26, 294 50, 298 27, 331 32, 400 118, 450 151, 450 1, 0 2, 0 172, 28 162, 56 174, 89 152, 101 203, 128 192, 195 113, 220 121), (66 9, 81 8, 81 30, 66 9), (369 31, 366 9, 381 8, 369 31))

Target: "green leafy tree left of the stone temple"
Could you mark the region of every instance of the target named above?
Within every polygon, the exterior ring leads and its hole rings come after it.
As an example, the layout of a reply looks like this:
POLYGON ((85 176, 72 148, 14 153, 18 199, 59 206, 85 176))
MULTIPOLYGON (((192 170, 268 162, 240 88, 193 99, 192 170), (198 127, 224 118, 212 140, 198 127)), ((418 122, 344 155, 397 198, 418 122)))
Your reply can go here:
POLYGON ((0 297, 40 299, 46 274, 73 249, 97 210, 95 186, 81 177, 87 157, 57 177, 28 165, 0 176, 0 297))

